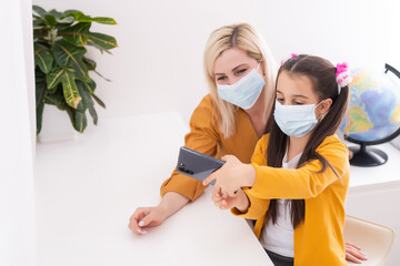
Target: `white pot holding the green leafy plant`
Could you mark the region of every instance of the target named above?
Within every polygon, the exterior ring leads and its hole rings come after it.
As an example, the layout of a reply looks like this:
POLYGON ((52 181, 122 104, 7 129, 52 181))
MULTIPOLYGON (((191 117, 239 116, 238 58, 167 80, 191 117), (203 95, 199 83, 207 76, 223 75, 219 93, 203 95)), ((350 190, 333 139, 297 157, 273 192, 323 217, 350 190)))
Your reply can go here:
POLYGON ((42 127, 38 135, 41 143, 73 141, 78 132, 73 129, 66 111, 44 104, 42 127))

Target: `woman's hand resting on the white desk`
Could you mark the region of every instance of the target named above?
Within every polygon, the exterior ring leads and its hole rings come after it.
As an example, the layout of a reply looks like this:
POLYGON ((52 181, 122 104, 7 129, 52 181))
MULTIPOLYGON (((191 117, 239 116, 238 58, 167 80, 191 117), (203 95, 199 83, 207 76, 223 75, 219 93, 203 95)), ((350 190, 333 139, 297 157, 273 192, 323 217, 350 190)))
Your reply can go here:
POLYGON ((166 218, 167 214, 160 206, 139 207, 130 217, 128 228, 137 235, 144 235, 146 227, 159 226, 166 218))

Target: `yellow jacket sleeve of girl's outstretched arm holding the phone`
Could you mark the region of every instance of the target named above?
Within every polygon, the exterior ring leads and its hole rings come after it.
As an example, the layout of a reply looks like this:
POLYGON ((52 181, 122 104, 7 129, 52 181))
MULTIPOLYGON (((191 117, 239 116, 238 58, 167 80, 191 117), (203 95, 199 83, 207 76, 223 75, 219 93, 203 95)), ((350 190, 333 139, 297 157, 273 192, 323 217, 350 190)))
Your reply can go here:
MULTIPOLYGON (((348 149, 337 137, 333 141, 327 139, 317 152, 327 158, 340 178, 349 171, 348 149)), ((319 173, 322 166, 319 160, 294 170, 252 165, 257 173, 256 182, 248 195, 258 198, 311 198, 338 181, 328 165, 324 172, 319 173)))

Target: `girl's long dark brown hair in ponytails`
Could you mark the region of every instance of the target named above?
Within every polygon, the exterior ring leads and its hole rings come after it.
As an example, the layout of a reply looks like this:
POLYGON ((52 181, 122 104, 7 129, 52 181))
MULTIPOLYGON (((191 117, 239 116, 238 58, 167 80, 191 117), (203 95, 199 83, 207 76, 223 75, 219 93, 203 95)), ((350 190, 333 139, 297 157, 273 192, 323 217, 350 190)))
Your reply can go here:
MULTIPOLYGON (((278 71, 276 90, 279 75, 282 71, 286 71, 292 75, 308 76, 312 81, 312 89, 318 95, 319 101, 326 99, 332 100, 332 104, 328 114, 317 124, 312 131, 309 141, 306 144, 304 151, 301 154, 298 168, 307 162, 319 160, 322 164, 322 167, 318 173, 324 172, 327 166, 329 166, 340 178, 333 166, 317 152, 317 147, 327 136, 333 135, 338 130, 346 113, 349 98, 349 88, 341 88, 339 94, 338 82, 336 80, 336 66, 328 60, 319 57, 300 54, 287 60, 278 71)), ((277 100, 277 94, 274 95, 274 100, 277 100)), ((272 110, 274 110, 274 105, 276 101, 273 101, 272 110)), ((288 144, 288 135, 286 135, 279 129, 273 119, 273 115, 270 115, 266 132, 270 133, 269 144, 267 147, 267 164, 272 167, 282 167, 282 160, 288 144)), ((296 228, 302 221, 304 221, 306 203, 304 200, 290 200, 290 203, 291 221, 293 228, 296 228)), ((277 221, 277 200, 271 200, 266 215, 266 221, 271 218, 272 223, 274 224, 277 221)))

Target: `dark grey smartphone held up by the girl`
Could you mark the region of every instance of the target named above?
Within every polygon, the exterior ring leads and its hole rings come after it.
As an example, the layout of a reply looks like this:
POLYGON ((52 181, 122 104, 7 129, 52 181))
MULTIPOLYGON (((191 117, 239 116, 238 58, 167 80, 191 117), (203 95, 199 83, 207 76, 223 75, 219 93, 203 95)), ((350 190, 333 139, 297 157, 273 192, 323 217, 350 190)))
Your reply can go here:
MULTIPOLYGON (((224 163, 221 160, 182 146, 179 150, 177 171, 202 182, 224 163)), ((214 183, 216 181, 213 180, 210 185, 214 183)))

